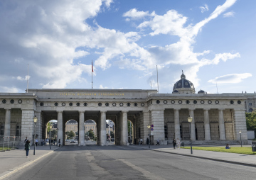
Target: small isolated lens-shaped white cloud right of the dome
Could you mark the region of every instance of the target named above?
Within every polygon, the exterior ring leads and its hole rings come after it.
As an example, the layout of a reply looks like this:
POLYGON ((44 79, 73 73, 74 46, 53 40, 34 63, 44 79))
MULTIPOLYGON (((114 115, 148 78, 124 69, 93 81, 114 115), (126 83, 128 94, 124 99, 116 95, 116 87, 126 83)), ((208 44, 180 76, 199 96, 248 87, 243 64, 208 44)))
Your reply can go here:
POLYGON ((241 82, 242 79, 246 79, 248 77, 252 77, 252 74, 227 74, 221 77, 216 77, 215 79, 210 79, 208 82, 213 84, 235 84, 241 82))

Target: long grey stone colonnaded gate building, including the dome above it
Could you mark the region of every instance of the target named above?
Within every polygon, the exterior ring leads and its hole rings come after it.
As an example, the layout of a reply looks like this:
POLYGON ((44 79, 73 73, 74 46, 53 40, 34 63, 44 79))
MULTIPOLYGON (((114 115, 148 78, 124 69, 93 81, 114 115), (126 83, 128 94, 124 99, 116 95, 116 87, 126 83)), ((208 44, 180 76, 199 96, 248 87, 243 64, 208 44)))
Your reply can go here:
POLYGON ((33 139, 33 117, 38 118, 36 136, 46 138, 46 125, 58 120, 58 139, 64 145, 65 124, 78 122, 79 145, 85 145, 86 120, 97 125, 97 145, 107 145, 106 120, 115 127, 115 144, 127 145, 127 120, 133 139, 146 142, 151 125, 151 142, 159 138, 167 145, 174 138, 193 142, 238 142, 239 131, 247 142, 246 94, 207 94, 196 91, 184 74, 172 94, 139 89, 28 89, 28 93, 0 93, 0 127, 4 136, 33 139))

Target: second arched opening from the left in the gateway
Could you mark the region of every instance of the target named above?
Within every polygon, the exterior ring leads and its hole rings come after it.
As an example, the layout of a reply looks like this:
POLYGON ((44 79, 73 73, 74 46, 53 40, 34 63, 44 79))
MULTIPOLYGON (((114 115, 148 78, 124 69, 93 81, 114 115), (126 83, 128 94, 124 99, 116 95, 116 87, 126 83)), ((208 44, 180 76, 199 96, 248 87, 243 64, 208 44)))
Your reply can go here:
POLYGON ((65 123, 65 145, 78 145, 78 121, 70 119, 65 123))

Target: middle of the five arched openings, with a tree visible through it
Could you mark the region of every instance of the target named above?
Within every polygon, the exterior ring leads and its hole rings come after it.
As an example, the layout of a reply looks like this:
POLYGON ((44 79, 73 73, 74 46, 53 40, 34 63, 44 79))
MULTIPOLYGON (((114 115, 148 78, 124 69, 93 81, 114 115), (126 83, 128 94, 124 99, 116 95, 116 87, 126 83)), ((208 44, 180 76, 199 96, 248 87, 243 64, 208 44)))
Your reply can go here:
POLYGON ((97 143, 97 123, 92 120, 85 121, 85 145, 96 145, 97 143))

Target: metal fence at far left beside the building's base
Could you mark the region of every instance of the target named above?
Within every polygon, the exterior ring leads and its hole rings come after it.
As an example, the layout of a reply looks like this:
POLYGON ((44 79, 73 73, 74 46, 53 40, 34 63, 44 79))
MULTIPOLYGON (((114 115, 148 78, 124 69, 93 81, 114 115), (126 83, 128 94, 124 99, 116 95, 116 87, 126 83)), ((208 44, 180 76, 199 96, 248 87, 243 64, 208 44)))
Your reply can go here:
POLYGON ((0 135, 0 150, 14 150, 20 140, 21 136, 0 135))

